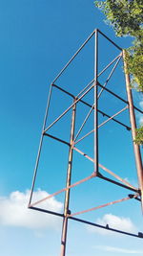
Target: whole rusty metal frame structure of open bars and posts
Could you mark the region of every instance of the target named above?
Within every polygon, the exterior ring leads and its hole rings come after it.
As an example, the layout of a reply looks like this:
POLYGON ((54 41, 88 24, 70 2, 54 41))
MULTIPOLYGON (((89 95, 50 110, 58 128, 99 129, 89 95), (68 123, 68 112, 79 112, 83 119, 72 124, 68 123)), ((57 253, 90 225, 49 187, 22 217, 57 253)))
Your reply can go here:
POLYGON ((132 184, 130 184, 127 180, 121 178, 119 175, 115 175, 111 170, 109 170, 108 168, 106 168, 105 166, 100 164, 99 160, 98 160, 98 128, 104 126, 106 123, 108 123, 112 120, 113 122, 116 122, 120 126, 123 126, 123 127, 127 128, 128 130, 131 130, 132 134, 133 134, 133 141, 134 141, 135 128, 136 128, 134 109, 139 111, 140 113, 143 113, 143 111, 141 111, 140 109, 138 109, 136 106, 133 105, 132 90, 131 90, 131 87, 130 87, 130 76, 126 73, 127 65, 128 65, 128 63, 126 61, 126 52, 124 50, 122 50, 118 45, 116 45, 107 35, 104 35, 101 31, 96 29, 92 32, 92 35, 90 35, 88 37, 88 39, 81 45, 79 50, 73 55, 73 57, 70 59, 70 61, 66 64, 66 66, 61 70, 61 72, 54 79, 54 81, 51 82, 48 105, 47 105, 47 108, 46 108, 46 114, 45 114, 44 124, 43 124, 43 128, 42 128, 42 135, 41 135, 41 140, 40 140, 40 145, 39 145, 39 151, 38 151, 38 154, 37 154, 35 170, 34 170, 34 175, 33 175, 33 180, 32 180, 32 185, 31 185, 31 198, 30 198, 30 202, 29 202, 29 208, 31 208, 33 210, 45 212, 45 213, 48 213, 48 214, 51 214, 51 215, 56 215, 56 216, 59 216, 59 217, 63 218, 63 228, 62 228, 62 236, 61 236, 61 256, 66 255, 66 242, 67 242, 67 232, 68 232, 68 221, 69 220, 87 223, 87 224, 90 224, 90 225, 93 225, 93 226, 96 226, 96 227, 99 227, 99 228, 103 228, 103 229, 106 229, 106 230, 112 230, 114 232, 122 233, 122 234, 125 234, 125 235, 130 235, 130 236, 137 237, 137 238, 143 238, 143 233, 141 233, 141 232, 138 232, 138 234, 133 234, 133 233, 113 229, 109 225, 106 225, 106 226, 99 225, 99 224, 93 223, 91 221, 85 221, 85 220, 77 219, 77 218, 74 217, 74 216, 82 214, 82 213, 94 211, 96 209, 106 207, 108 205, 112 205, 114 203, 122 202, 122 201, 125 201, 125 200, 130 200, 132 198, 141 201, 141 205, 142 205, 142 209, 143 209, 143 168, 142 168, 142 160, 141 160, 141 153, 140 153, 139 146, 136 145, 133 142, 134 157, 135 157, 136 170, 137 170, 137 176, 138 176, 138 188, 135 188, 132 184), (116 58, 114 58, 112 60, 112 62, 109 63, 100 73, 98 73, 98 34, 104 36, 108 41, 110 41, 112 43, 112 45, 114 47, 116 47, 119 50, 119 55, 116 58), (75 96, 71 92, 63 89, 60 86, 58 86, 56 84, 56 81, 58 81, 60 76, 66 71, 67 67, 72 63, 72 60, 79 54, 79 52, 88 43, 88 41, 92 38, 92 36, 94 36, 94 38, 95 38, 95 41, 94 41, 94 47, 95 47, 94 48, 95 49, 94 50, 94 78, 93 78, 92 81, 89 82, 89 84, 78 95, 75 96), (121 98, 119 95, 115 94, 114 92, 112 92, 112 90, 107 88, 108 81, 110 81, 110 79, 112 77, 112 74, 113 74, 115 68, 117 67, 117 64, 118 64, 118 62, 120 61, 121 58, 123 58, 124 68, 125 68, 125 81, 126 81, 126 91, 127 91, 127 99, 128 100, 125 100, 125 99, 121 98), (115 64, 112 68, 112 72, 111 72, 110 76, 108 77, 107 81, 105 82, 105 84, 100 84, 100 82, 98 81, 98 77, 101 74, 103 74, 114 62, 115 62, 115 64), (52 88, 53 87, 57 90, 62 91, 63 93, 68 94, 70 97, 72 97, 72 105, 70 105, 58 118, 56 118, 54 120, 54 122, 52 122, 49 127, 46 127, 48 114, 49 114, 49 107, 50 107, 50 104, 51 104, 51 93, 52 93, 52 88), (94 94, 94 103, 93 103, 93 105, 90 105, 85 100, 83 100, 83 98, 84 98, 85 95, 87 95, 92 90, 92 88, 94 90, 94 92, 93 92, 93 94, 94 94), (109 94, 112 94, 113 97, 122 101, 125 104, 125 107, 122 108, 117 113, 113 114, 112 116, 110 116, 109 114, 101 111, 98 108, 98 100, 99 100, 101 94, 104 91, 108 92, 109 94), (81 102, 83 105, 88 105, 90 107, 90 111, 89 111, 88 115, 86 116, 81 128, 78 130, 77 134, 75 135, 74 134, 74 128, 75 128, 76 105, 79 102, 81 102), (70 141, 65 141, 65 140, 62 140, 59 137, 52 136, 49 133, 49 129, 55 123, 57 123, 71 109, 72 109, 72 123, 71 123, 71 138, 70 138, 70 141), (123 112, 127 109, 129 110, 129 114, 130 114, 131 127, 125 125, 124 123, 122 123, 122 122, 120 122, 116 119, 117 115, 119 115, 121 112, 123 112), (88 118, 90 117, 92 111, 94 113, 94 128, 89 133, 84 135, 82 138, 78 139, 78 135, 80 134, 83 127, 85 126, 85 124, 86 124, 88 118), (106 116, 108 119, 106 121, 104 121, 102 124, 99 125, 98 124, 98 114, 102 114, 102 115, 106 116), (89 136, 91 133, 94 133, 94 157, 93 158, 90 157, 85 152, 80 151, 76 147, 76 145, 79 141, 83 140, 85 137, 89 136), (57 191, 57 192, 53 193, 52 195, 48 196, 47 198, 41 198, 38 201, 31 202, 32 194, 33 194, 33 190, 34 190, 34 184, 35 184, 36 175, 37 175, 37 170, 38 170, 38 164, 39 164, 41 149, 42 149, 42 144, 43 144, 43 139, 46 136, 51 137, 52 139, 57 140, 60 143, 64 143, 69 147, 69 160, 68 160, 66 187, 61 189, 60 191, 57 191), (92 161, 93 164, 94 164, 94 171, 91 175, 87 176, 86 178, 81 179, 81 180, 72 184, 71 179, 72 179, 72 154, 73 154, 73 151, 77 151, 78 153, 80 153, 81 155, 83 155, 84 157, 86 157, 87 159, 92 161), (115 178, 116 180, 114 180, 112 178, 109 178, 106 175, 101 175, 100 172, 99 172, 99 168, 101 168, 106 173, 112 175, 113 178, 115 178), (99 205, 99 206, 92 207, 91 209, 86 209, 86 210, 81 211, 81 212, 72 213, 71 210, 70 210, 70 191, 71 191, 71 189, 73 187, 75 187, 75 186, 77 186, 77 185, 79 185, 79 184, 81 184, 81 183, 83 183, 83 182, 85 182, 89 179, 95 178, 95 177, 107 180, 108 182, 112 182, 116 186, 120 186, 124 189, 128 189, 128 190, 132 191, 133 194, 128 195, 127 198, 117 199, 115 201, 108 202, 106 204, 102 204, 102 205, 99 205), (64 212, 63 212, 63 214, 53 212, 53 211, 49 211, 49 210, 45 210, 45 209, 42 209, 42 208, 38 208, 36 206, 38 203, 40 203, 44 200, 48 200, 49 198, 54 197, 54 196, 56 196, 56 195, 58 195, 62 192, 65 192, 65 203, 64 203, 64 212))

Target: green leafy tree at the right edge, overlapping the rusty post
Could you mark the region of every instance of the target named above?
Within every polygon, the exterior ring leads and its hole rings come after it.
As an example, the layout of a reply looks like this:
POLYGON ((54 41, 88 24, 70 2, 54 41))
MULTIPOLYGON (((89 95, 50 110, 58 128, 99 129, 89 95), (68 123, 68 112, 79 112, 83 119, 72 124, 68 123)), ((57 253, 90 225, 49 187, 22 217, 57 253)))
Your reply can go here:
MULTIPOLYGON (((143 92, 143 1, 106 0, 95 1, 107 17, 117 36, 133 36, 133 46, 127 49, 127 72, 131 75, 131 85, 143 92)), ((143 126, 136 129, 135 143, 143 145, 143 126)))

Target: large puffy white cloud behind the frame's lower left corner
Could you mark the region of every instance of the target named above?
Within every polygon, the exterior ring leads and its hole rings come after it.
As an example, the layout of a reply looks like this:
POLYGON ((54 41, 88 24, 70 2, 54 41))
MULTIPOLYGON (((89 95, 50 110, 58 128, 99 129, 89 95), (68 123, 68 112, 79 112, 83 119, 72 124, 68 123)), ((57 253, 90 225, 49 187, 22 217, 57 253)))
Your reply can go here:
MULTIPOLYGON (((33 198, 36 198, 36 200, 48 196, 49 194, 46 191, 38 190, 33 193, 33 198)), ((27 190, 25 193, 14 191, 9 197, 1 197, 0 224, 31 229, 58 228, 60 218, 28 209, 29 198, 30 190, 27 190)), ((50 198, 39 206, 51 211, 61 212, 63 204, 55 198, 50 198)))

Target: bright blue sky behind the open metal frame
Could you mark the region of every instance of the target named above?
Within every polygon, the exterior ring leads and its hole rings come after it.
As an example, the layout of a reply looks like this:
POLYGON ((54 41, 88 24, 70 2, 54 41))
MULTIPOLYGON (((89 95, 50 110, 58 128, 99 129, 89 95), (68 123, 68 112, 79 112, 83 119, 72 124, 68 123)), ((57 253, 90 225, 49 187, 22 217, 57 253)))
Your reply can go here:
MULTIPOLYGON (((27 210, 26 205, 51 81, 95 28, 111 37, 122 48, 128 47, 132 42, 128 37, 115 37, 112 28, 103 20, 104 15, 94 8, 91 0, 0 1, 0 256, 60 254, 61 221, 27 210)), ((100 71, 119 51, 114 50, 103 38, 99 39, 100 71)), ((122 90, 122 64, 118 68, 110 86, 116 93, 126 97, 122 90)), ((92 76, 93 40, 58 84, 72 92, 78 92, 78 85, 86 84, 92 76)), ((105 78, 103 76, 100 81, 103 82, 105 78)), ((92 94, 90 97, 92 101, 92 94)), ((133 98, 135 105, 143 106, 141 95, 133 91, 133 98)), ((53 93, 52 99, 56 104, 51 108, 49 122, 71 103, 69 98, 63 101, 63 95, 59 92, 53 93)), ((103 111, 114 114, 125 105, 114 101, 105 93, 99 106, 103 111)), ((79 105, 77 117, 80 124, 88 110, 85 108, 82 112, 79 105)), ((139 123, 142 117, 137 114, 136 118, 139 123)), ((119 120, 130 126, 128 114, 121 115, 119 120)), ((67 121, 61 121, 60 129, 58 126, 53 128, 53 134, 58 130, 58 134, 67 139, 70 128, 68 121, 70 115, 67 116, 67 121)), ((85 131, 92 128, 92 117, 90 121, 85 131)), ((137 186, 131 133, 112 122, 99 132, 101 163, 137 186)), ((46 197, 64 187, 68 156, 65 147, 50 139, 45 142, 35 198, 46 197)), ((82 147, 92 155, 92 137, 85 140, 83 145, 79 143, 79 149, 82 147)), ((92 163, 75 152, 72 182, 90 175, 91 172, 92 163)), ((119 190, 112 184, 99 180, 95 183, 91 180, 72 190, 71 207, 74 211, 84 210, 100 203, 126 198, 127 195, 128 191, 119 190)), ((63 198, 63 195, 52 198, 44 206, 62 211, 63 198)), ((135 233, 143 229, 140 205, 135 200, 85 214, 83 218, 102 224, 108 221, 116 228, 124 226, 126 230, 135 233)), ((143 255, 142 240, 104 233, 72 221, 69 227, 67 256, 143 255)))

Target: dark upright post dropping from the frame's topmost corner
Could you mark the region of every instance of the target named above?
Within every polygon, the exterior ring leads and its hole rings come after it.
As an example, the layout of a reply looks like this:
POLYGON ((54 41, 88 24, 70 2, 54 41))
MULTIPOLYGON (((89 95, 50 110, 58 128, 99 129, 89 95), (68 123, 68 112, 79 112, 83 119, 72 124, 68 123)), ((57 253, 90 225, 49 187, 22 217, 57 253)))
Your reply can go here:
POLYGON ((98 31, 95 30, 94 49, 94 172, 98 175, 98 31))

